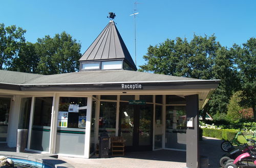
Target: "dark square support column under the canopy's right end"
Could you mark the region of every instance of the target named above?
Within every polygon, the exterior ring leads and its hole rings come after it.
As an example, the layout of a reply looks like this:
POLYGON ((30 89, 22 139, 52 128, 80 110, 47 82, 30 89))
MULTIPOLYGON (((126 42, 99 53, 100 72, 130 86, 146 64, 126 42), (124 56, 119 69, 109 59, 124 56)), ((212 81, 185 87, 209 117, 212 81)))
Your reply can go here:
POLYGON ((199 167, 199 105, 198 95, 185 96, 186 98, 186 117, 193 118, 193 126, 186 130, 186 166, 199 167))

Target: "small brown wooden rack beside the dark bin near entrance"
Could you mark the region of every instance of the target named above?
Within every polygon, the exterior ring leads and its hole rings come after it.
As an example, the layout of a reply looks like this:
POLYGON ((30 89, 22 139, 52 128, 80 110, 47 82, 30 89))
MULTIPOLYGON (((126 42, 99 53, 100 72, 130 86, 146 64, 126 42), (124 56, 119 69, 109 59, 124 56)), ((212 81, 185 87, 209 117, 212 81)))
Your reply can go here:
POLYGON ((111 136, 111 149, 113 156, 124 155, 124 142, 122 136, 111 136))

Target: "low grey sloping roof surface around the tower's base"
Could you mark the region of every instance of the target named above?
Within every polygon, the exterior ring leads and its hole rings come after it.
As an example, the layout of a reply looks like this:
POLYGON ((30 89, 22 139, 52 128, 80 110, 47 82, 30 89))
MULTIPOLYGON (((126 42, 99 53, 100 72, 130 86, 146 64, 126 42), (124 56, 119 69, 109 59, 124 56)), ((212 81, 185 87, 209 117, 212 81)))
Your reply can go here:
POLYGON ((39 75, 0 70, 0 83, 18 86, 87 85, 110 83, 154 83, 154 82, 218 82, 128 70, 72 72, 55 75, 39 75))

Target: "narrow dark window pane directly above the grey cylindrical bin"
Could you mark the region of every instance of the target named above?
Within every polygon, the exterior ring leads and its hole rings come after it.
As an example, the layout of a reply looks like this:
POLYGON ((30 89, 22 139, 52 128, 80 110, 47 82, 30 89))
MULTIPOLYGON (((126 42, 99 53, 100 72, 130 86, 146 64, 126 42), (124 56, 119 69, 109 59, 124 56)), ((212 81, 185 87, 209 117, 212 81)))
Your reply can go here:
POLYGON ((22 98, 22 103, 20 105, 20 115, 19 115, 19 129, 29 129, 30 120, 30 110, 31 110, 32 98, 22 98))

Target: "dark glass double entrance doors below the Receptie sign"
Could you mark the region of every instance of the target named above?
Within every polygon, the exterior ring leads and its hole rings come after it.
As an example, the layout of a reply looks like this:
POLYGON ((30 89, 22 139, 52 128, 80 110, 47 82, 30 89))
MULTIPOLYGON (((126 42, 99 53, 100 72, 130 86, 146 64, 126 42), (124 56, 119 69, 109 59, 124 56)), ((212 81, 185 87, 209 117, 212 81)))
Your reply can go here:
POLYGON ((153 145, 153 104, 120 102, 119 132, 125 151, 150 151, 153 145))

